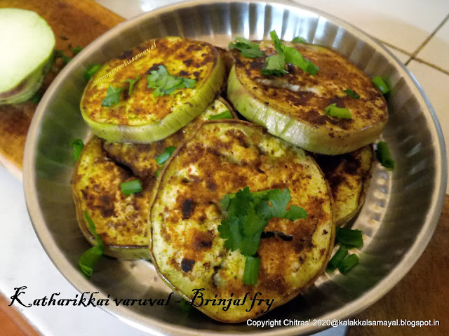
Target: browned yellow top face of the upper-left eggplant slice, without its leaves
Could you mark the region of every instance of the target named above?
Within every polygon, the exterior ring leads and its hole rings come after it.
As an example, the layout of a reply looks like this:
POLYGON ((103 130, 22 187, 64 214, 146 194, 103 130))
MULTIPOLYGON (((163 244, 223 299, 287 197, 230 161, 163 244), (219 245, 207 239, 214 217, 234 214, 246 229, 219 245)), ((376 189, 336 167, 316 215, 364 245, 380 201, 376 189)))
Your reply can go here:
POLYGON ((195 91, 185 89, 177 95, 164 95, 155 98, 152 95, 153 89, 147 87, 147 74, 150 74, 152 70, 159 69, 159 65, 165 66, 168 73, 173 75, 179 74, 179 68, 189 74, 197 72, 196 77, 189 75, 187 78, 196 79, 195 87, 199 87, 208 80, 214 67, 214 60, 216 61, 218 57, 219 53, 215 47, 201 41, 179 37, 147 41, 126 51, 126 55, 123 54, 110 60, 93 76, 84 91, 81 109, 90 119, 99 123, 140 125, 159 121, 170 114, 174 105, 184 104, 191 100, 195 91), (204 54, 206 56, 203 56, 204 54), (135 58, 135 60, 125 67, 121 67, 124 56, 129 59, 135 58), (185 62, 186 58, 189 62, 185 62), (135 79, 137 74, 141 79, 133 87, 132 100, 119 102, 112 107, 102 107, 102 100, 105 98, 109 86, 117 88, 118 84, 123 83, 126 79, 135 79), (103 78, 104 76, 106 77, 103 78))

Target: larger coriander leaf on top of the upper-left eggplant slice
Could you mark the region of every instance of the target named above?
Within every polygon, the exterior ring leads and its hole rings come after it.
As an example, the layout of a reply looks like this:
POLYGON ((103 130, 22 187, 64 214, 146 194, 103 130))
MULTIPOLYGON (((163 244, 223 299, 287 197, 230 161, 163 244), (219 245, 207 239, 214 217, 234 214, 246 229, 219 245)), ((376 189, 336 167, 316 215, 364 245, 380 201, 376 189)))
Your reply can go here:
POLYGON ((148 88, 154 88, 154 97, 168 95, 177 88, 193 88, 195 79, 173 76, 168 73, 166 67, 159 65, 159 69, 152 70, 147 76, 148 88))

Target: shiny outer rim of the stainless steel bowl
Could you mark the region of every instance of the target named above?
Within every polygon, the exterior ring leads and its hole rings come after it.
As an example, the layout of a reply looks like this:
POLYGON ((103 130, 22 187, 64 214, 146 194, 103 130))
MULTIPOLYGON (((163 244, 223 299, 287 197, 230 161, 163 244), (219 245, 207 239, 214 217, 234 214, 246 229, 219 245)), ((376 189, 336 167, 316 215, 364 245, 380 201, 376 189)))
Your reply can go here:
MULTIPOLYGON (((57 246, 55 246, 55 243, 53 242, 53 238, 51 235, 51 232, 46 227, 46 222, 43 219, 43 215, 40 211, 39 206, 39 197, 36 192, 35 187, 35 180, 36 180, 36 172, 33 169, 34 168, 34 160, 36 155, 36 139, 40 132, 40 125, 41 125, 41 119, 43 117, 43 114, 46 111, 46 107, 48 103, 51 101, 51 98, 57 93, 58 87, 61 83, 67 79, 74 69, 76 67, 79 67, 82 62, 85 62, 86 59, 89 57, 89 53, 93 53, 93 51, 96 51, 100 46, 107 43, 107 41, 110 41, 116 36, 119 35, 120 32, 124 30, 128 30, 131 27, 135 25, 140 25, 142 22, 145 22, 147 20, 153 20, 154 18, 157 18, 162 13, 166 13, 168 11, 175 11, 180 10, 182 8, 192 7, 192 6, 208 6, 208 5, 214 5, 218 3, 243 3, 243 4, 260 4, 260 1, 255 0, 209 0, 207 4, 205 4, 201 0, 194 0, 194 1, 182 1, 180 3, 176 4, 170 4, 167 6, 163 6, 160 8, 156 8, 152 11, 149 11, 147 13, 142 13, 135 18, 131 18, 130 20, 126 20, 124 22, 121 22, 116 27, 110 29, 109 31, 105 32, 105 34, 102 34, 98 37, 98 39, 95 39, 92 43, 90 43, 86 48, 79 53, 79 55, 74 58, 71 62, 69 62, 68 65, 62 69, 60 74, 55 78, 53 83, 51 83, 51 86, 49 86, 48 90, 46 91, 45 95, 43 95, 43 98, 41 102, 39 103, 39 106, 36 109, 36 112, 34 114, 34 118, 32 119, 32 123, 29 127, 29 133, 27 136, 27 141, 25 144, 25 152, 24 152, 24 164, 23 164, 23 184, 24 184, 24 191, 25 191, 25 200, 27 204, 27 210, 29 213, 29 217, 32 221, 34 231, 36 231, 36 236, 38 236, 39 241, 41 242, 41 245, 43 246, 44 250, 46 251, 48 257, 50 257, 53 264, 55 264, 55 267, 60 271, 60 273, 71 283, 76 290, 79 290, 81 292, 81 289, 83 291, 90 291, 92 292, 100 292, 97 297, 99 298, 106 298, 107 295, 105 293, 102 293, 100 289, 96 288, 93 283, 86 280, 80 272, 76 269, 74 269, 71 264, 67 261, 67 258, 60 255, 59 250, 57 246), (62 257, 62 258, 61 258, 62 257)), ((369 34, 366 34, 361 29, 358 29, 357 27, 354 27, 354 25, 349 24, 348 22, 345 22, 344 20, 341 20, 340 18, 336 18, 333 15, 330 15, 326 12, 317 10, 316 8, 311 8, 309 6, 303 6, 300 4, 293 4, 290 1, 264 1, 265 4, 277 4, 280 6, 283 6, 283 8, 288 9, 288 11, 295 11, 295 10, 305 10, 309 11, 310 13, 314 13, 316 15, 319 15, 323 18, 326 18, 326 20, 329 20, 330 22, 333 22, 337 24, 340 27, 343 27, 344 29, 347 29, 348 32, 351 32, 356 35, 358 39, 361 39, 362 41, 369 42, 371 46, 375 47, 376 51, 382 51, 384 54, 387 54, 389 58, 392 58, 394 60, 394 65, 396 68, 401 69, 403 72, 404 79, 406 81, 410 80, 411 83, 413 83, 413 86, 410 87, 410 89, 415 89, 420 93, 420 96, 417 96, 417 98, 421 98, 424 101, 426 109, 424 109, 423 113, 424 115, 429 112, 429 115, 431 116, 432 123, 429 123, 430 125, 434 125, 436 135, 438 137, 438 149, 439 152, 436 150, 436 177, 434 177, 434 180, 436 182, 440 182, 439 189, 438 189, 438 196, 434 197, 431 201, 431 204, 429 206, 429 212, 428 216, 424 222, 424 225, 422 226, 422 229, 420 230, 420 233, 417 235, 415 242, 412 246, 408 249, 408 251, 403 255, 403 258, 394 269, 390 271, 387 276, 384 276, 382 280, 380 280, 376 285, 373 286, 370 290, 368 290, 366 293, 358 297, 356 300, 353 300, 350 303, 345 304, 340 309, 336 309, 334 311, 330 311, 327 314, 324 314, 323 316, 319 316, 317 318, 322 319, 343 319, 347 318, 348 316, 357 314, 359 311, 362 311, 363 309, 366 309, 368 306, 376 302, 377 300, 380 300, 380 298, 385 295, 391 288, 394 287, 398 283, 398 281, 403 278, 403 276, 406 275, 406 273, 413 267, 415 262, 419 259, 420 255, 424 252, 424 249, 426 248, 427 244, 430 241, 430 238, 434 232, 434 229, 436 228, 436 224, 438 223, 438 218, 441 214, 441 209, 443 208, 443 202, 445 198, 445 185, 447 182, 447 172, 448 172, 448 163, 447 158, 445 154, 445 144, 444 144, 444 138, 443 133, 441 130, 441 126, 438 123, 438 119, 436 117, 436 114, 434 112, 433 107, 431 107, 431 103, 429 101, 429 98, 427 98, 427 95, 424 93, 424 90, 420 86, 420 84, 415 79, 415 76, 410 72, 409 69, 406 68, 405 65, 403 65, 398 58, 394 54, 392 54, 387 48, 385 48, 382 43, 377 41, 377 39, 373 38, 369 34), (438 156, 439 154, 439 156, 438 156), (439 162, 438 162, 439 161, 439 162), (439 166, 438 166, 439 163, 439 166), (438 171, 439 169, 439 171, 438 171), (439 173, 439 175, 438 175, 439 173)), ((416 94, 413 93, 415 96, 416 94)), ((422 102, 420 102, 420 106, 422 106, 422 102)), ((429 119, 426 116, 427 119, 429 119)), ((116 316, 121 321, 124 321, 125 323, 128 323, 128 325, 133 325, 133 327, 138 328, 140 330, 143 330, 145 332, 152 332, 154 335, 164 335, 163 332, 179 332, 182 330, 184 332, 184 335, 211 335, 209 331, 203 332, 201 330, 194 330, 190 328, 181 328, 173 325, 169 325, 168 323, 161 322, 159 320, 156 320, 152 318, 152 316, 145 316, 142 317, 140 314, 130 311, 129 309, 126 309, 125 307, 112 307, 112 308, 105 308, 101 307, 103 310, 107 311, 109 314, 112 314, 113 316, 116 316), (151 323, 151 325, 148 325, 148 322, 151 323)), ((304 326, 301 327, 284 327, 279 328, 275 330, 257 330, 257 331, 250 331, 248 332, 249 335, 259 335, 263 333, 263 335, 297 335, 297 332, 301 333, 307 333, 307 332, 318 332, 319 330, 322 330, 326 327, 317 327, 314 328, 313 325, 309 325, 304 328, 304 326)), ((225 335, 223 333, 217 332, 216 335, 225 335)))

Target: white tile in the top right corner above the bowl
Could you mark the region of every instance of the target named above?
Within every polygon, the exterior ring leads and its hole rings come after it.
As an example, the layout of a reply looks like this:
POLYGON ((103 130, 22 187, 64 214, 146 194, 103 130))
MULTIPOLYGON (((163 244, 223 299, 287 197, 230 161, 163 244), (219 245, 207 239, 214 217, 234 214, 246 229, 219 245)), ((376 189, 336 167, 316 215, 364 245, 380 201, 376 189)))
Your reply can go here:
POLYGON ((449 13, 448 0, 294 0, 413 53, 449 13))

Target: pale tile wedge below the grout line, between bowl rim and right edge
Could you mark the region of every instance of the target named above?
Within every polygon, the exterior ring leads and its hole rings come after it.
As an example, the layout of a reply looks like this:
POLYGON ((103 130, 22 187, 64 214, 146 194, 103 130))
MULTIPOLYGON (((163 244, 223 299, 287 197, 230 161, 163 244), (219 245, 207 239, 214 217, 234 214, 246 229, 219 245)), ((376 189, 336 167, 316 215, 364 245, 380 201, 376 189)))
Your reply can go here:
MULTIPOLYGON (((429 96, 443 130, 446 156, 449 157, 449 75, 415 60, 410 62, 408 69, 415 75, 424 88, 424 92, 429 96)), ((449 194, 449 181, 446 194, 449 194)))

